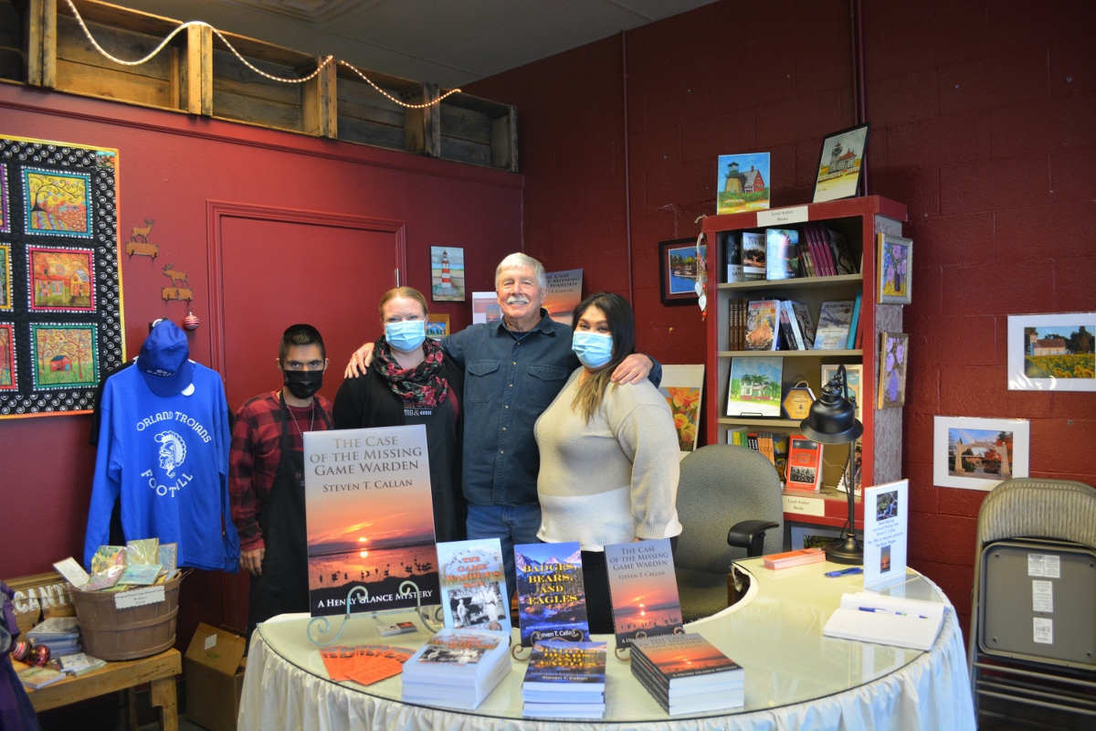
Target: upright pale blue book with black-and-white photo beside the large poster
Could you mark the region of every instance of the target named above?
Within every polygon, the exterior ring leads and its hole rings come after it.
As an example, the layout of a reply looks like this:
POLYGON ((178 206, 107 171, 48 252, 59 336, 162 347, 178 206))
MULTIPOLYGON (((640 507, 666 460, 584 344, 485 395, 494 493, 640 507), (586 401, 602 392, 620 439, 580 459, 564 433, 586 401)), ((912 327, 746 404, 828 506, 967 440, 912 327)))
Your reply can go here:
POLYGON ((498 538, 438 544, 437 564, 446 627, 510 631, 510 594, 498 538))

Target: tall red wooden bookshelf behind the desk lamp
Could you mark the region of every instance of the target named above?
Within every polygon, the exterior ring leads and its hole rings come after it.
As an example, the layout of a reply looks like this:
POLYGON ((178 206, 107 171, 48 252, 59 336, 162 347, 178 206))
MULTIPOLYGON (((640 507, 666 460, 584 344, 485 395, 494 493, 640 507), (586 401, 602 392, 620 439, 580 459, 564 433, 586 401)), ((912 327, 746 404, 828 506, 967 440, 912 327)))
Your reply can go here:
MULTIPOLYGON (((774 431, 798 434, 798 422, 788 419, 727 416, 727 389, 733 358, 784 357, 781 393, 800 380, 807 381, 818 397, 822 382, 823 364, 863 365, 861 419, 863 437, 863 484, 871 486, 901 478, 902 468, 902 410, 876 409, 876 382, 878 381, 878 349, 880 332, 902 332, 902 307, 876 302, 876 235, 902 235, 902 224, 906 220, 903 204, 871 195, 826 203, 783 208, 779 212, 756 212, 709 216, 704 220, 707 239, 708 272, 710 282, 707 318, 705 422, 707 444, 726 444, 727 430, 747 426, 751 431, 774 431), (779 218, 780 220, 773 220, 779 218), (767 222, 773 220, 773 222, 767 222), (826 227, 845 235, 853 260, 860 261, 860 272, 841 276, 814 276, 794 279, 761 282, 727 282, 724 261, 728 233, 741 231, 764 231, 766 228, 796 228, 802 238, 802 224, 821 221, 826 227), (713 290, 713 292, 712 292, 713 290), (858 350, 833 351, 731 351, 729 343, 728 304, 732 299, 792 299, 807 305, 811 318, 818 323, 822 302, 830 300, 852 300, 863 293, 858 327, 863 330, 863 347, 858 350), (715 296, 712 296, 715 295, 715 296)), ((846 513, 844 493, 834 488, 841 477, 848 456, 846 446, 827 446, 824 449, 822 493, 786 491, 794 498, 813 498, 822 503, 813 504, 807 512, 786 512, 786 521, 812 523, 840 527, 846 513), (824 509, 824 510, 823 510, 824 509), (810 514, 822 512, 823 514, 810 514)), ((783 479, 783 478, 781 478, 783 479)), ((786 503, 786 511, 788 501, 786 503)), ((857 499, 857 524, 863 515, 857 499)))

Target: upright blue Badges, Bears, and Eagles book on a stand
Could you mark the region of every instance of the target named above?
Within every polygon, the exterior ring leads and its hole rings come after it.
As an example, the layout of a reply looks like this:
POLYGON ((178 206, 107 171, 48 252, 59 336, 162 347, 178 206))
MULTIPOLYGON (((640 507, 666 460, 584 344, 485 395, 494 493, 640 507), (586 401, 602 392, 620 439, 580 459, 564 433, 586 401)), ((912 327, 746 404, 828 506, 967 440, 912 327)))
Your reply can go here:
POLYGON ((544 640, 590 640, 582 552, 578 541, 514 546, 522 647, 544 640))

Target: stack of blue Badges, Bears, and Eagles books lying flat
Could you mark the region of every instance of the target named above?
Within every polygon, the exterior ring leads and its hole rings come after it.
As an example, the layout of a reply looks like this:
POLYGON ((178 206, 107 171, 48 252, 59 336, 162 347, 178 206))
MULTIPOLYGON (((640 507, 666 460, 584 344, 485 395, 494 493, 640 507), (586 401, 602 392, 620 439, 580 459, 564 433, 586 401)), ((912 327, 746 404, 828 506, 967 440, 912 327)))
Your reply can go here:
POLYGON ((522 715, 602 718, 605 715, 605 642, 547 640, 533 646, 522 683, 522 715))

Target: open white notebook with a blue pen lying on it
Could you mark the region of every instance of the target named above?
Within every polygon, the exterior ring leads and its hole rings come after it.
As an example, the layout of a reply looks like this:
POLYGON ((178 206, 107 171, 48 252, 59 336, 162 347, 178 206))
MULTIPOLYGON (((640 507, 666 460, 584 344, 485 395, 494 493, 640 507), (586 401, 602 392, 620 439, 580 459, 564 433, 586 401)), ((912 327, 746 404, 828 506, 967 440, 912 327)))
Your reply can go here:
POLYGON ((945 605, 881 594, 844 594, 822 628, 826 637, 929 650, 944 625, 945 605))

